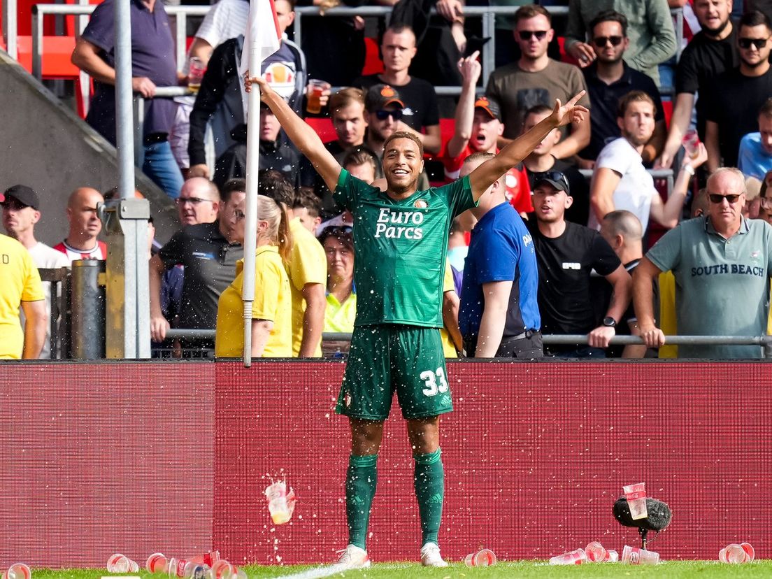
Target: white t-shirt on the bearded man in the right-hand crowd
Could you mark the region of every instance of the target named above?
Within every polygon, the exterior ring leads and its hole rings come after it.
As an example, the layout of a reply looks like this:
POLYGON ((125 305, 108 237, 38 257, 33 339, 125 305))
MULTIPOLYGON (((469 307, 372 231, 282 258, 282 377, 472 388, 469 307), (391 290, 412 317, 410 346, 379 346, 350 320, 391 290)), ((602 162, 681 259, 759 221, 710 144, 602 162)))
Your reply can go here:
MULTIPOLYGON (((643 166, 641 155, 625 137, 619 137, 603 147, 598 154, 595 169, 599 168, 611 169, 621 174, 621 181, 614 190, 614 208, 634 213, 645 232, 652 198, 659 193, 654 188, 652 175, 643 166)), ((594 212, 590 213, 590 222, 587 225, 593 229, 601 229, 594 212)))

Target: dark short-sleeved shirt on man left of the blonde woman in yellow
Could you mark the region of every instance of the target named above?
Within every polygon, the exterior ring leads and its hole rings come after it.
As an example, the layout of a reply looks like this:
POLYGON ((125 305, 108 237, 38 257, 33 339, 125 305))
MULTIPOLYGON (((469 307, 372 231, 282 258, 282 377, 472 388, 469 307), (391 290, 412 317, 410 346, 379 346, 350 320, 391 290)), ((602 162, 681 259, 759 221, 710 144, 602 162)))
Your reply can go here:
POLYGON ((187 225, 158 252, 166 269, 185 266, 179 327, 214 330, 220 294, 236 276, 244 249, 229 244, 218 222, 187 225))

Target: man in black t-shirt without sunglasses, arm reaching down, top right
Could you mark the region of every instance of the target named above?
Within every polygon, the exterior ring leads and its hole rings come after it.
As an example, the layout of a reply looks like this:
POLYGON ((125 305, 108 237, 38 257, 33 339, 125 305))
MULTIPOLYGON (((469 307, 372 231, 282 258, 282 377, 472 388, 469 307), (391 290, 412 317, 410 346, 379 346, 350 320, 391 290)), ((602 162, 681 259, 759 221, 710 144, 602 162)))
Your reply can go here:
POLYGON ((668 139, 657 163, 666 169, 672 167, 695 109, 697 134, 705 140, 708 97, 698 99, 698 94, 707 95, 713 90, 716 76, 740 63, 736 29, 730 20, 732 0, 694 0, 692 8, 702 30, 681 53, 675 71, 675 107, 668 139))

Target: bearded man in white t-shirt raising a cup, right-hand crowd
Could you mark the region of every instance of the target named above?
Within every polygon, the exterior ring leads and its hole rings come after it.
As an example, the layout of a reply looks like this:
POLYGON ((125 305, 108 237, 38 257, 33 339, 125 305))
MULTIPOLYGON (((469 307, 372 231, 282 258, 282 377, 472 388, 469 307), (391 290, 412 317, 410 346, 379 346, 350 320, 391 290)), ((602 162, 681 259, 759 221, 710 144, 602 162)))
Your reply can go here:
MULTIPOLYGON (((644 232, 649 215, 667 229, 678 224, 685 191, 673 191, 667 202, 662 202, 641 158, 654 133, 654 117, 654 101, 642 90, 633 90, 619 100, 617 123, 622 136, 603 147, 595 161, 590 185, 591 228, 601 229, 599 224, 606 214, 618 209, 633 213, 644 232)), ((682 170, 694 174, 690 165, 682 170)))

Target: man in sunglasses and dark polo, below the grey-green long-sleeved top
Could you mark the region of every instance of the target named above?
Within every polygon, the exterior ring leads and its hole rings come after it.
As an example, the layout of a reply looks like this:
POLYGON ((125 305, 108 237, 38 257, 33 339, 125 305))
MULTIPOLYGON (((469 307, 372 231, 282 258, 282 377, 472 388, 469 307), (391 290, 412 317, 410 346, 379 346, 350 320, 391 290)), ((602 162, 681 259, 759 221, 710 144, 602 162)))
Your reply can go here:
POLYGON ((609 141, 619 137, 619 99, 632 90, 642 90, 648 94, 656 107, 654 133, 643 147, 643 162, 651 163, 665 144, 667 127, 659 89, 650 76, 632 69, 623 59, 630 46, 627 29, 627 17, 614 10, 601 12, 590 22, 595 60, 582 70, 592 103, 590 144, 579 153, 579 156, 587 161, 584 168, 592 168, 601 149, 609 141))

